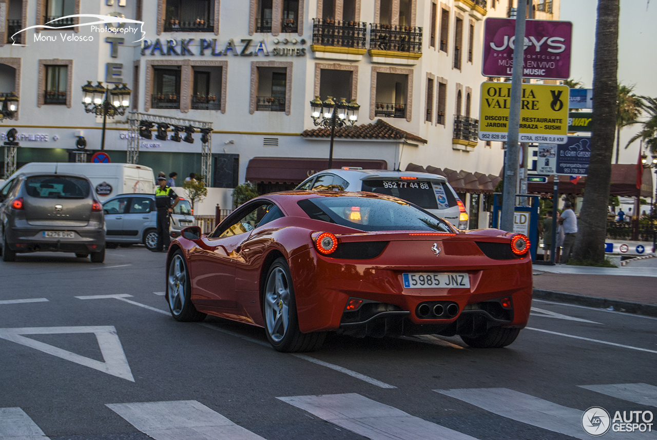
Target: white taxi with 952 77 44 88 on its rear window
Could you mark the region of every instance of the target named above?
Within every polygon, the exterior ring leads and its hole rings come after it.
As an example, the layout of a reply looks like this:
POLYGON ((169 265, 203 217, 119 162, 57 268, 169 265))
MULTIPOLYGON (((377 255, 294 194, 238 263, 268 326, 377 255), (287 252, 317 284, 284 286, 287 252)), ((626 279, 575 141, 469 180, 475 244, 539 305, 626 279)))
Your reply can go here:
POLYGON ((360 169, 342 167, 325 169, 300 183, 296 189, 369 191, 399 197, 416 204, 430 213, 467 229, 468 213, 445 177, 416 171, 360 169))

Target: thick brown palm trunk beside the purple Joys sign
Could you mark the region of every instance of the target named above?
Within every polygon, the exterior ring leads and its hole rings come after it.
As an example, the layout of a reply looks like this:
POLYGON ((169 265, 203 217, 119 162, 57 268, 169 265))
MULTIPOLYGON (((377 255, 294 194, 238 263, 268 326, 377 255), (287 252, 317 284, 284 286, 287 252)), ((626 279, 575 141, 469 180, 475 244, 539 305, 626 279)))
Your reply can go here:
POLYGON ((598 0, 593 61, 591 160, 572 258, 604 261, 607 203, 612 173, 618 93, 618 18, 620 0, 598 0))

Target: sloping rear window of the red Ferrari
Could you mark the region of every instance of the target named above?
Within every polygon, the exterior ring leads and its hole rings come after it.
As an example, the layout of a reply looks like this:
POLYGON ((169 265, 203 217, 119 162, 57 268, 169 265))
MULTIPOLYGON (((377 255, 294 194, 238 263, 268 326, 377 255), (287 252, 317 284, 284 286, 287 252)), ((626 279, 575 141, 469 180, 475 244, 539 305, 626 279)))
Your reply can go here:
POLYGON ((454 232, 431 213, 401 200, 365 197, 318 197, 298 202, 308 217, 360 231, 454 232))

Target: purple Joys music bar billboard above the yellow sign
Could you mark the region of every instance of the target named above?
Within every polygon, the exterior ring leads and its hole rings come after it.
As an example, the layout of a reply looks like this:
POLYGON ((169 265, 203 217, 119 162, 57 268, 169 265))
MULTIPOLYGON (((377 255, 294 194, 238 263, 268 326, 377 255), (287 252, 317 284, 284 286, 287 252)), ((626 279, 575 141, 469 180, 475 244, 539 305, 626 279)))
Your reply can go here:
MULTIPOLYGON (((486 18, 484 25, 484 76, 511 76, 515 47, 514 18, 486 18)), ((522 76, 543 79, 570 77, 572 23, 527 20, 522 76)))

